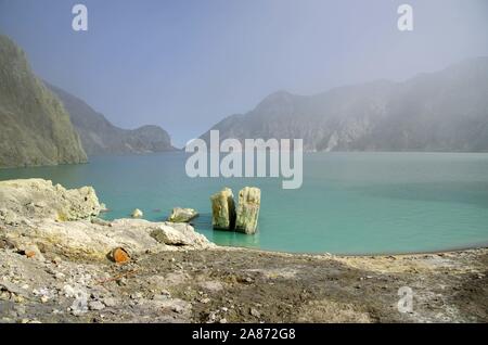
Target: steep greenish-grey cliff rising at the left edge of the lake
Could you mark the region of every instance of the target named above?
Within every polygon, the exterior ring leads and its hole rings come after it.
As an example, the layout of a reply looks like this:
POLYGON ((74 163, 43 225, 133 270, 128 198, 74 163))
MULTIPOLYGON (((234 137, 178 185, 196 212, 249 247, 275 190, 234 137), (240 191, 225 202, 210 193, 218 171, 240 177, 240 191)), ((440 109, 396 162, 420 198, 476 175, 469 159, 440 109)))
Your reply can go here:
POLYGON ((87 162, 63 104, 0 35, 0 167, 87 162))

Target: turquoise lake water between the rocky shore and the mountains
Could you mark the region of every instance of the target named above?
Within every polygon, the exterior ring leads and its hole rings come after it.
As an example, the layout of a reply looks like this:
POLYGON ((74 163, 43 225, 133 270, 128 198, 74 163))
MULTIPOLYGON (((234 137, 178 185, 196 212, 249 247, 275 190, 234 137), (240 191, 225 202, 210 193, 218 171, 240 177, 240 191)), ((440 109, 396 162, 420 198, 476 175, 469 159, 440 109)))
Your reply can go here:
POLYGON ((91 158, 87 165, 0 170, 0 179, 41 177, 68 188, 93 186, 106 218, 141 208, 164 220, 175 206, 196 208, 195 228, 221 245, 301 253, 375 254, 488 243, 488 154, 310 153, 304 184, 275 178, 187 177, 184 153, 91 158), (211 230, 209 196, 261 189, 255 235, 211 230))

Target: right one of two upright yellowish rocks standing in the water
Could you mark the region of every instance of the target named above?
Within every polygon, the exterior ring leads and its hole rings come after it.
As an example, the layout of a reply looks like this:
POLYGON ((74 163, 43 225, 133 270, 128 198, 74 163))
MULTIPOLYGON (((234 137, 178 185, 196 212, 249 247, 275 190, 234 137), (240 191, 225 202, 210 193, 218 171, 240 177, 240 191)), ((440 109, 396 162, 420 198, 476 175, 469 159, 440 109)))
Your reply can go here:
POLYGON ((245 187, 239 192, 237 219, 235 230, 255 233, 261 204, 261 190, 256 187, 245 187))

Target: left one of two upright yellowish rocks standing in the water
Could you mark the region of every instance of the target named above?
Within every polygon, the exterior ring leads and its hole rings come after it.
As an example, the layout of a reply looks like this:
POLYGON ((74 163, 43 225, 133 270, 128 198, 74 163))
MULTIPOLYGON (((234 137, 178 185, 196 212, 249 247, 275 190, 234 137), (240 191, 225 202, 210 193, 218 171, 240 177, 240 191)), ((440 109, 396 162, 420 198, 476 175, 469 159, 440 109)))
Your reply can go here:
POLYGON ((234 195, 230 188, 224 188, 210 196, 211 225, 214 229, 233 230, 235 225, 234 195))

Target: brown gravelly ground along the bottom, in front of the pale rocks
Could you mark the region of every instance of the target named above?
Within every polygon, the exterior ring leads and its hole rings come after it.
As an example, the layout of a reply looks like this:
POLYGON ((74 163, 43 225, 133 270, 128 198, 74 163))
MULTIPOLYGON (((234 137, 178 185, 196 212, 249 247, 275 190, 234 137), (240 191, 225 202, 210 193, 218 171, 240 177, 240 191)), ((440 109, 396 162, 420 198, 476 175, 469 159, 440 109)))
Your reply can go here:
POLYGON ((0 322, 488 321, 485 248, 348 257, 216 247, 124 265, 42 256, 0 243, 0 322), (406 312, 402 286, 413 293, 406 312))

